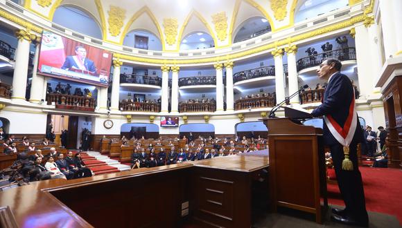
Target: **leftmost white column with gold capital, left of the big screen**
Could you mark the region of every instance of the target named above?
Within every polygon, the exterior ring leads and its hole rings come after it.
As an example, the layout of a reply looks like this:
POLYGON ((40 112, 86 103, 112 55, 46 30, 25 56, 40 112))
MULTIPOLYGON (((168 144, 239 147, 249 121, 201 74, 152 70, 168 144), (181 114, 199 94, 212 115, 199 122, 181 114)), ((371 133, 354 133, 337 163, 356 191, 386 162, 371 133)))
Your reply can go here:
POLYGON ((15 36, 18 38, 18 46, 15 51, 11 99, 25 100, 26 78, 28 77, 29 44, 30 41, 36 39, 36 35, 31 34, 29 30, 17 30, 15 36))

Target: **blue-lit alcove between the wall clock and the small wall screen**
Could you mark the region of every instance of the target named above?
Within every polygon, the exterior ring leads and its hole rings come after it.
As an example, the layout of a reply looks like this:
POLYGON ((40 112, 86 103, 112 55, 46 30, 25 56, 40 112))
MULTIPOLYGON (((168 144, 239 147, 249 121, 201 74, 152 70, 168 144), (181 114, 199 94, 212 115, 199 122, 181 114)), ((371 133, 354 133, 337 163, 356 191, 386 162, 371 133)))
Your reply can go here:
POLYGON ((159 137, 159 126, 149 123, 129 123, 121 125, 120 135, 130 139, 132 137, 146 139, 159 137))

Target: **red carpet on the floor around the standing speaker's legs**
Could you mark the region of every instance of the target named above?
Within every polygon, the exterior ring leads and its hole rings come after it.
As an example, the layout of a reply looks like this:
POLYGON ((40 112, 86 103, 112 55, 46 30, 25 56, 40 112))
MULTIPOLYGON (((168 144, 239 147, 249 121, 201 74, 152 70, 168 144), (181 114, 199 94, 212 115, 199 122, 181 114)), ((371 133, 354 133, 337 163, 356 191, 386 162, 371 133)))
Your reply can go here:
MULTIPOLYGON (((365 188, 367 211, 396 216, 402 224, 402 171, 359 167, 365 188)), ((338 184, 328 184, 329 204, 344 206, 338 184)))

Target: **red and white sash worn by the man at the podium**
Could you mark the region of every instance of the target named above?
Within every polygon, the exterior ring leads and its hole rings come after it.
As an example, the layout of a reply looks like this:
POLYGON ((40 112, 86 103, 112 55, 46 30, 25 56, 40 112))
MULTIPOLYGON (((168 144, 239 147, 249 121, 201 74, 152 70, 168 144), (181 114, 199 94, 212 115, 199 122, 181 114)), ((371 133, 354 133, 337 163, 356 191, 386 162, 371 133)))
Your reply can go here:
POLYGON ((354 90, 351 104, 349 106, 349 115, 346 122, 344 123, 343 128, 335 120, 333 120, 333 117, 331 115, 325 115, 324 120, 333 137, 335 137, 335 139, 340 144, 342 144, 342 146, 349 146, 351 144, 351 141, 353 140, 353 135, 356 131, 356 124, 358 121, 354 90))

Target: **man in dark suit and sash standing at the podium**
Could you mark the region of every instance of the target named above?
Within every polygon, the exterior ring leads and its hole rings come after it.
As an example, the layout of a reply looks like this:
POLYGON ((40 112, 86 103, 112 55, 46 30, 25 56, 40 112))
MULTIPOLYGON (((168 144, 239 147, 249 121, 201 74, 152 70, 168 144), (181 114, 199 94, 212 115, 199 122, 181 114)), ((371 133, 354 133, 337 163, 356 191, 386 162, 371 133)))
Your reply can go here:
POLYGON ((329 146, 344 210, 333 209, 331 218, 348 225, 368 225, 362 176, 358 170, 357 144, 362 131, 358 122, 355 97, 350 79, 340 73, 338 59, 325 59, 317 69, 320 79, 328 80, 324 100, 311 113, 324 115, 324 144, 329 146), (350 160, 349 160, 350 159, 350 160))

